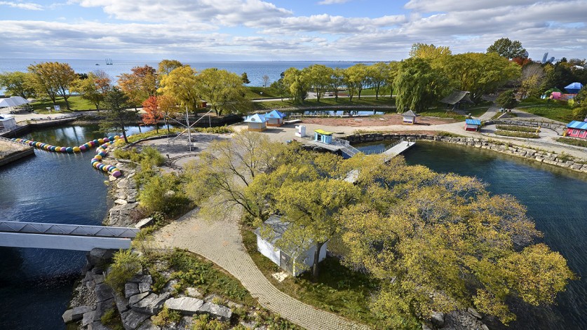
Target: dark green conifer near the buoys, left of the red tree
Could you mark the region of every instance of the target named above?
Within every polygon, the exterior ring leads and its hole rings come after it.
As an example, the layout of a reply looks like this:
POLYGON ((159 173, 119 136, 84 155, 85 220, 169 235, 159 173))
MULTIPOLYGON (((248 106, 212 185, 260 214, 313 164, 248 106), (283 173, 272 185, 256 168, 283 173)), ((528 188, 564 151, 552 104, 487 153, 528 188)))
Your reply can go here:
POLYGON ((120 130, 124 142, 128 143, 126 138, 126 127, 137 121, 136 111, 128 111, 128 96, 118 87, 112 88, 104 97, 106 106, 106 118, 100 122, 100 128, 104 131, 120 130))

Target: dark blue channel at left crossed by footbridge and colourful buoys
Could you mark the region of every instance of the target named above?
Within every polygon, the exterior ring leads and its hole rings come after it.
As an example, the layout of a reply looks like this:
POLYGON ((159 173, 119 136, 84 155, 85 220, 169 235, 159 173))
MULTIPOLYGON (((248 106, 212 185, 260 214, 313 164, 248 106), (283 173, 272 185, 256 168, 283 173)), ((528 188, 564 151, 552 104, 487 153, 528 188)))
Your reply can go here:
MULTIPOLYGON (((151 128, 142 128, 150 130, 151 128)), ((60 146, 104 137, 97 126, 51 128, 26 135, 60 146)), ((129 134, 137 132, 131 128, 129 134)), ((0 216, 11 221, 99 225, 107 177, 90 165, 95 151, 35 155, 0 167, 0 216)), ((0 247, 0 329, 65 329, 61 319, 85 253, 0 247)))

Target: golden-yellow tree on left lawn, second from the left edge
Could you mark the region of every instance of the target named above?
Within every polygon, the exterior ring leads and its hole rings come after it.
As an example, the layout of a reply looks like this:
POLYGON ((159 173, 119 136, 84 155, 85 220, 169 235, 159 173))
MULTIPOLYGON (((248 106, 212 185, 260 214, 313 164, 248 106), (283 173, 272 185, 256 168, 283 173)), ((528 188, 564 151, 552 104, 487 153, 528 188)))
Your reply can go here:
POLYGON ((56 105, 57 97, 63 97, 65 107, 69 108, 69 97, 71 96, 72 83, 77 75, 67 63, 43 62, 29 65, 29 72, 32 74, 34 89, 39 95, 48 96, 56 105))

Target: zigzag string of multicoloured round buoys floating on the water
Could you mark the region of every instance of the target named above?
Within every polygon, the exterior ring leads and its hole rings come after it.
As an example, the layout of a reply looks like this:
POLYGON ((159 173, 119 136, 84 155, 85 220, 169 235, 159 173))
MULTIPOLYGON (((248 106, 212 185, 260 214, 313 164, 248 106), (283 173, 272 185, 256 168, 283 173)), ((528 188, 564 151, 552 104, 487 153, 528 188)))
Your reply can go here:
POLYGON ((53 146, 52 144, 46 144, 43 142, 32 141, 29 139, 17 139, 13 138, 12 140, 15 142, 19 142, 22 144, 28 144, 34 148, 43 149, 46 151, 53 151, 58 153, 81 153, 83 151, 87 151, 92 149, 94 146, 98 146, 96 149, 96 156, 90 160, 92 166, 97 170, 101 170, 102 172, 107 172, 111 174, 113 177, 120 177, 122 175, 121 171, 112 165, 105 165, 102 164, 102 158, 106 157, 108 152, 108 147, 113 144, 117 139, 120 139, 118 135, 104 137, 102 139, 94 139, 92 141, 88 141, 81 146, 53 146))

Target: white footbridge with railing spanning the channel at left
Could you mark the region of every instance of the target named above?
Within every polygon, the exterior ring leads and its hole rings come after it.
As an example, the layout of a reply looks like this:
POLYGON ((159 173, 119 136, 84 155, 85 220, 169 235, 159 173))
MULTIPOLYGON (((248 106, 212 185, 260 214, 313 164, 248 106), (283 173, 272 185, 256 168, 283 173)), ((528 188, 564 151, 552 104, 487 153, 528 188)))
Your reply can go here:
POLYGON ((137 228, 0 221, 0 246, 90 251, 129 249, 137 228))

